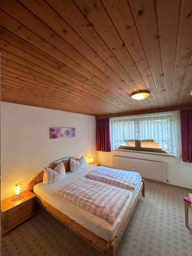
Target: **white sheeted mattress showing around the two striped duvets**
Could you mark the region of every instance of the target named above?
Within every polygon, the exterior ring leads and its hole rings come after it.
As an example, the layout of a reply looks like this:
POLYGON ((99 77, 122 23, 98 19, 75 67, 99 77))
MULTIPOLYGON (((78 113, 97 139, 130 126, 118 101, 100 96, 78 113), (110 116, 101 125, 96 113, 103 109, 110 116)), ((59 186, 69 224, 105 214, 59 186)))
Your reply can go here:
POLYGON ((135 190, 128 189, 130 191, 130 196, 113 224, 110 224, 108 221, 92 214, 86 209, 81 208, 75 203, 55 193, 57 188, 65 184, 69 184, 77 178, 85 176, 95 168, 97 168, 97 166, 89 165, 87 168, 84 168, 79 172, 67 172, 65 179, 49 185, 44 185, 42 182, 40 182, 34 186, 33 190, 37 196, 57 208, 59 211, 63 212, 63 214, 67 215, 81 226, 91 230, 105 241, 111 241, 115 238, 124 216, 136 196, 136 192, 140 187, 141 180, 135 190))

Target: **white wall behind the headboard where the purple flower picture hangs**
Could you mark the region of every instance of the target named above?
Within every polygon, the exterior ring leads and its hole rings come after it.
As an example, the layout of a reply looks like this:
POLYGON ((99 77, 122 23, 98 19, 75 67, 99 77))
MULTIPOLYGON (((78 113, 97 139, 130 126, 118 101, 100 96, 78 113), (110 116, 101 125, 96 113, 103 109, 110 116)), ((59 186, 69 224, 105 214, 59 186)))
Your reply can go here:
POLYGON ((14 183, 22 190, 49 163, 84 154, 97 160, 95 117, 33 106, 1 102, 1 195, 14 195, 14 183), (50 139, 50 127, 75 127, 76 137, 50 139))

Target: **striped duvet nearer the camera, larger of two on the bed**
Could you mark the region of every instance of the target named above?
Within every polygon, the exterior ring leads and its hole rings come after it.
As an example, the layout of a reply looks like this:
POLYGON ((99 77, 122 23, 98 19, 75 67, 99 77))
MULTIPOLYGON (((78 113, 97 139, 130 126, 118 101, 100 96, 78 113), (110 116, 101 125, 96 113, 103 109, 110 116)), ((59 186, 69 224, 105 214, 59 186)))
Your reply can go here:
POLYGON ((116 220, 130 196, 128 190, 86 178, 76 179, 55 192, 110 223, 116 220))

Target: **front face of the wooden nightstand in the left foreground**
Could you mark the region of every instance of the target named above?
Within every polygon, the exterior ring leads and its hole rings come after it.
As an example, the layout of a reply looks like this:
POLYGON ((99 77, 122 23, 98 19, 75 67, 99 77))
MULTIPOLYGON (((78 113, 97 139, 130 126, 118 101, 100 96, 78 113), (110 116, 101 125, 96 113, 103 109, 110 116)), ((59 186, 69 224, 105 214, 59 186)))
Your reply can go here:
POLYGON ((30 217, 33 213, 33 199, 8 210, 8 229, 30 217))

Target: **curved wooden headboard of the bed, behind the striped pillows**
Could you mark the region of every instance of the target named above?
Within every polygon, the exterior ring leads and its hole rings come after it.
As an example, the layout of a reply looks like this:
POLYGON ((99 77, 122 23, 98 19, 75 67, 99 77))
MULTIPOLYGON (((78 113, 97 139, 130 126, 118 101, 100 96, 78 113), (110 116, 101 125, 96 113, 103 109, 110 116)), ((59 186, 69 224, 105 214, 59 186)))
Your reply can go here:
MULTIPOLYGON (((70 158, 73 158, 73 157, 65 157, 65 158, 58 159, 58 160, 50 163, 48 167, 51 169, 54 169, 58 163, 63 162, 63 164, 66 168, 66 172, 69 172, 70 171, 70 158)), ((34 185, 42 182, 43 178, 44 178, 44 170, 29 183, 29 191, 33 191, 34 185)))

